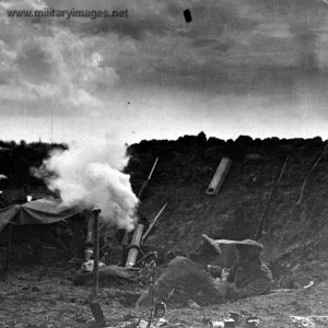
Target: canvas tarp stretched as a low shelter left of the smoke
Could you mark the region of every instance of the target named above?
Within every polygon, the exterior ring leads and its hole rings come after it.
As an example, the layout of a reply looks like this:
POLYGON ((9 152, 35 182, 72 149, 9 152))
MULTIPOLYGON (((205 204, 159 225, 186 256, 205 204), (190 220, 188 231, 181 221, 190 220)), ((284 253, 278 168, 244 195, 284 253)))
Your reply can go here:
POLYGON ((50 224, 70 219, 80 212, 78 209, 62 207, 58 200, 43 198, 22 206, 0 209, 0 232, 8 223, 17 225, 50 224))

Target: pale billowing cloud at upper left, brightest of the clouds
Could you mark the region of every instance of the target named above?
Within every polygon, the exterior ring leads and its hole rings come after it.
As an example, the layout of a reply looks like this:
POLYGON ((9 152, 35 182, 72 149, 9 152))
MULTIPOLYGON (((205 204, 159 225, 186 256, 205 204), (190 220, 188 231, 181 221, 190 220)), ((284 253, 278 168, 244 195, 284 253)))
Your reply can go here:
MULTIPOLYGON (((36 8, 35 3, 40 2, 27 4, 36 8)), ((20 8, 21 2, 15 4, 20 8)), ((12 31, 14 21, 2 21, 0 27, 12 31)), ((98 87, 108 91, 119 77, 108 61, 92 65, 92 54, 103 48, 101 40, 80 40, 69 30, 52 25, 38 28, 36 24, 22 21, 19 31, 23 30, 21 25, 30 32, 28 36, 17 33, 0 39, 0 101, 23 106, 31 115, 48 115, 49 110, 55 115, 75 112, 68 107, 87 114, 90 108, 104 105, 98 87), (45 109, 39 110, 45 104, 45 109)))

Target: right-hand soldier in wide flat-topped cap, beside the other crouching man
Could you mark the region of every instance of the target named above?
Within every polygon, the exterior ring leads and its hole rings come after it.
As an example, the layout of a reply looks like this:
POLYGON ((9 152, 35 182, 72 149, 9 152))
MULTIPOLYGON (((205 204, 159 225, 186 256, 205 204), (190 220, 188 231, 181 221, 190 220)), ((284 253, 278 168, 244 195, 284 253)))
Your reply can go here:
MULTIPOLYGON (((269 294, 272 285, 272 273, 260 260, 263 246, 251 239, 242 242, 216 241, 221 244, 233 244, 237 248, 237 260, 231 270, 223 269, 221 279, 227 281, 227 298, 238 300, 256 295, 269 294), (227 277, 227 278, 226 278, 227 277)), ((220 269, 220 268, 219 268, 220 269)), ((210 272, 218 272, 210 268, 210 272)), ((213 274, 214 276, 214 274, 213 274)))

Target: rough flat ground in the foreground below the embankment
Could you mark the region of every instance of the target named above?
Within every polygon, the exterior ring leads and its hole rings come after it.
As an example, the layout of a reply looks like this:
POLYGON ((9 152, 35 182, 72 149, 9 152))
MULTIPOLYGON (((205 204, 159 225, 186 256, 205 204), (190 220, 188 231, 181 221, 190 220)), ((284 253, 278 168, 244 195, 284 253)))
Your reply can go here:
MULTIPOLYGON (((92 327, 89 307, 91 285, 73 286, 74 269, 62 262, 58 266, 34 266, 16 269, 0 283, 0 327, 65 328, 92 327)), ((149 319, 150 313, 134 309, 134 302, 143 286, 102 284, 98 302, 108 327, 133 323, 134 318, 149 319)), ((230 312, 239 313, 238 327, 246 318, 255 316, 258 327, 315 327, 297 326, 290 316, 321 316, 327 314, 328 282, 316 283, 308 289, 290 293, 258 296, 230 304, 206 308, 168 308, 164 318, 175 327, 208 327, 203 319, 221 321, 230 312)), ((314 319, 316 327, 327 327, 323 318, 314 319)))

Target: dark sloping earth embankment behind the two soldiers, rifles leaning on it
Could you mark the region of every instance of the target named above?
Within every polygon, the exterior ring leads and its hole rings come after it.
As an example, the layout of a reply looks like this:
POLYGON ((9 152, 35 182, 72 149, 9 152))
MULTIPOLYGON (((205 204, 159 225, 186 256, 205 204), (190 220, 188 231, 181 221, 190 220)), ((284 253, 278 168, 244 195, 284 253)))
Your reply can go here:
POLYGON ((277 288, 301 288, 327 279, 328 153, 302 185, 325 149, 314 139, 235 141, 185 136, 177 141, 142 141, 129 149, 127 172, 136 191, 159 156, 141 212, 150 221, 167 201, 147 244, 165 261, 198 246, 200 234, 213 238, 254 238, 266 201, 289 156, 281 183, 267 213, 270 234, 263 235, 263 259, 277 288), (218 196, 206 194, 223 156, 233 165, 218 196))

